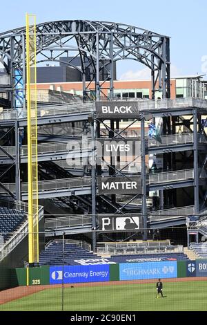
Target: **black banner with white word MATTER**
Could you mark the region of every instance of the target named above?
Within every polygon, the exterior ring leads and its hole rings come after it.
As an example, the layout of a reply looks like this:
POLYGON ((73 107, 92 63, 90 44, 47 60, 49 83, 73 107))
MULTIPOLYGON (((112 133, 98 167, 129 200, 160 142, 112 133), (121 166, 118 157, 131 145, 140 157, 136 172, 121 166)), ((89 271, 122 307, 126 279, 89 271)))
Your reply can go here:
POLYGON ((141 176, 97 179, 99 194, 141 194, 141 176))

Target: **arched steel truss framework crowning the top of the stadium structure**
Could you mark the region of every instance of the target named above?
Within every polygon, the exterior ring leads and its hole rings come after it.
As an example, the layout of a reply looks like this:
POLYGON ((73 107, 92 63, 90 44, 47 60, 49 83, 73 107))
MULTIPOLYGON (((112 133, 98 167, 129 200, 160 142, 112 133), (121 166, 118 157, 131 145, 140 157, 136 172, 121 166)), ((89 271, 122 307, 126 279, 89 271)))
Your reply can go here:
MULTIPOLYGON (((91 82, 95 82, 95 96, 103 95, 108 88, 108 97, 113 97, 113 62, 121 59, 133 59, 145 64, 152 75, 152 98, 157 86, 163 90, 163 97, 170 97, 170 39, 149 30, 106 21, 50 21, 37 25, 37 62, 59 62, 61 55, 80 56, 83 97, 87 97, 91 82), (105 70, 103 81, 99 73, 105 70), (86 71, 90 71, 90 82, 86 83, 86 71), (106 86, 109 81, 110 86, 106 86)), ((1 62, 11 77, 12 107, 15 106, 15 89, 26 83, 26 28, 16 28, 0 33, 1 62), (15 71, 20 78, 16 78, 15 71)), ((64 62, 66 63, 66 62, 64 62)), ((21 99, 25 107, 25 96, 21 99)))

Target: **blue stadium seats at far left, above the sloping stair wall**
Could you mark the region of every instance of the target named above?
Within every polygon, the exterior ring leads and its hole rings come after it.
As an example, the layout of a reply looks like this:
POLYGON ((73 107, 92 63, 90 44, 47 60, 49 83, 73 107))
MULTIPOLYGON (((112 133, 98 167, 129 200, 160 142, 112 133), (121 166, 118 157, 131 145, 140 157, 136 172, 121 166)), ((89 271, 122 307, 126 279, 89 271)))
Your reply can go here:
POLYGON ((0 207, 0 234, 7 241, 18 228, 26 221, 27 215, 23 211, 0 207))

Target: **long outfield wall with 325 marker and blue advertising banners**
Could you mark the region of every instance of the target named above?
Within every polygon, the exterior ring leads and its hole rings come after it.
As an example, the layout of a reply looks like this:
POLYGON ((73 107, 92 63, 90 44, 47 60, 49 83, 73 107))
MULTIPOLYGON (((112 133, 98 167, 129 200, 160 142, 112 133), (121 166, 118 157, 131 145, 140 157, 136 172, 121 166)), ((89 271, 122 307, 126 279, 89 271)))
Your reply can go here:
POLYGON ((207 260, 15 268, 5 279, 7 286, 10 279, 11 287, 181 277, 207 277, 207 260))

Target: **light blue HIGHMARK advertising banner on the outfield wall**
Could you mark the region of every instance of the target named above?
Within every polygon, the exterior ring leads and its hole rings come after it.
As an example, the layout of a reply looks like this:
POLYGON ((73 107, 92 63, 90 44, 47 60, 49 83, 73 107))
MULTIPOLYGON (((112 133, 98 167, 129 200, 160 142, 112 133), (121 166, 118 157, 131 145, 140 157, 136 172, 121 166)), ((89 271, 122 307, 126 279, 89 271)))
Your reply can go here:
POLYGON ((177 262, 124 263, 119 266, 120 280, 166 279, 177 277, 177 262))

